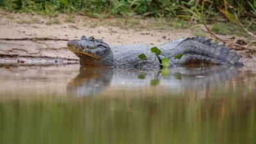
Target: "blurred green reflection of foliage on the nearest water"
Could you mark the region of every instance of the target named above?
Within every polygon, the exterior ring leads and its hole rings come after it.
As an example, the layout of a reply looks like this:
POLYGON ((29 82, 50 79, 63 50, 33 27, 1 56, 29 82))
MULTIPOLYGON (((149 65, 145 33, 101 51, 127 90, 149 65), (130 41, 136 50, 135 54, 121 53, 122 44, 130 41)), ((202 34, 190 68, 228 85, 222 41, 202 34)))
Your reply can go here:
POLYGON ((0 103, 0 143, 256 143, 256 99, 83 97, 0 103))

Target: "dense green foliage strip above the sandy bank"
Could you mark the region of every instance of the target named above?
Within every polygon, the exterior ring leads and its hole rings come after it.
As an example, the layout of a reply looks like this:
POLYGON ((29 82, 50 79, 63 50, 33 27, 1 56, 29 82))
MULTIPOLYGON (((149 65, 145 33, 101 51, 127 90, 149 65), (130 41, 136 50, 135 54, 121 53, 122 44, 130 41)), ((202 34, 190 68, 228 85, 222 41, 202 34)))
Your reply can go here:
POLYGON ((78 12, 91 17, 109 15, 143 15, 152 17, 176 17, 186 15, 188 10, 200 10, 204 4, 204 14, 216 16, 219 10, 234 10, 244 17, 256 13, 255 0, 0 0, 1 8, 14 11, 44 11, 54 17, 58 13, 78 12), (210 7, 210 5, 212 6, 210 7))

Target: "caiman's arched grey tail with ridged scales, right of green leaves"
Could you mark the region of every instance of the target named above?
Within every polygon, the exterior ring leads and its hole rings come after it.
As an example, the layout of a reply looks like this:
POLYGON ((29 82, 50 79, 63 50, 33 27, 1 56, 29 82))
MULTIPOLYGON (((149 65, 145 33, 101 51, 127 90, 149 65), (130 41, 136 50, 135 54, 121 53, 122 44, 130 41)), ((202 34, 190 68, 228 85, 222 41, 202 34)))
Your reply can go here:
MULTIPOLYGON (((218 41, 212 42, 212 39, 205 40, 201 37, 186 38, 182 41, 177 41, 177 45, 173 45, 174 41, 170 41, 159 46, 162 50, 163 59, 166 52, 172 52, 173 55, 183 54, 180 59, 180 64, 205 62, 221 65, 238 65, 243 66, 242 62, 238 62, 241 55, 237 54, 232 48, 226 47, 225 44, 219 44, 218 41), (172 45, 170 45, 170 43, 172 45)), ((173 57, 169 59, 173 64, 177 64, 178 60, 173 57)))

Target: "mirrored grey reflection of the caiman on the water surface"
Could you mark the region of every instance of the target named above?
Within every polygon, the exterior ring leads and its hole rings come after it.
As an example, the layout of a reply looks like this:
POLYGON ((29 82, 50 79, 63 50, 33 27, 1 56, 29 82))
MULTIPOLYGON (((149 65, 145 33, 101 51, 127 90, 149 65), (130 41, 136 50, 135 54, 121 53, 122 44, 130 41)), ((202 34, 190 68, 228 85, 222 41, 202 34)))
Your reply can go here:
MULTIPOLYGON (((169 69, 168 69, 169 70, 169 69)), ((150 69, 111 69, 81 67, 79 75, 67 84, 70 96, 93 96, 104 92, 108 87, 125 90, 143 90, 147 87, 159 87, 163 91, 206 92, 212 86, 221 86, 239 76, 239 69, 228 66, 212 66, 207 69, 170 69, 168 76, 163 71, 150 69), (162 75, 161 75, 162 74, 162 75)))

